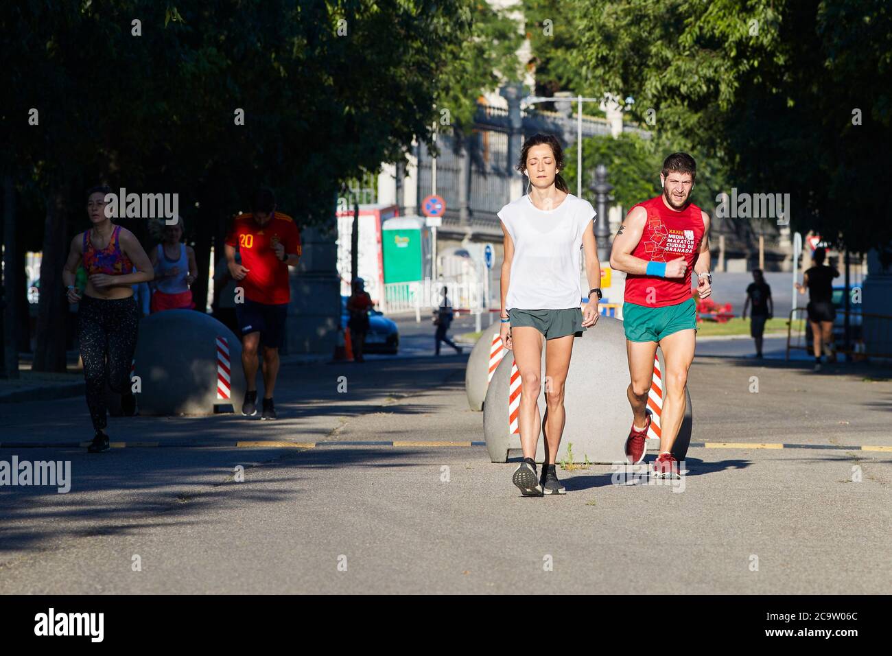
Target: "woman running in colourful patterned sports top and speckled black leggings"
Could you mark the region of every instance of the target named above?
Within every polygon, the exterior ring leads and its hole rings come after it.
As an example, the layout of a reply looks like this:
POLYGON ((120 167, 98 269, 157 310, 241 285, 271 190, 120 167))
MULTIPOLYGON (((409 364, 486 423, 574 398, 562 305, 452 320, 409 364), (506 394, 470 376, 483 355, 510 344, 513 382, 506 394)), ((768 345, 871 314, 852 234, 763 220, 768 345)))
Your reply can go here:
POLYGON ((136 351, 139 310, 133 285, 153 278, 152 262, 136 236, 116 226, 105 214, 109 187, 87 192, 87 216, 93 227, 71 240, 62 280, 68 287, 68 302, 78 303, 78 341, 87 381, 87 407, 95 436, 90 453, 107 451, 109 436, 106 383, 121 394, 121 410, 136 414, 136 396, 130 390, 130 362, 136 351), (78 266, 87 270, 87 288, 81 295, 75 286, 78 266))

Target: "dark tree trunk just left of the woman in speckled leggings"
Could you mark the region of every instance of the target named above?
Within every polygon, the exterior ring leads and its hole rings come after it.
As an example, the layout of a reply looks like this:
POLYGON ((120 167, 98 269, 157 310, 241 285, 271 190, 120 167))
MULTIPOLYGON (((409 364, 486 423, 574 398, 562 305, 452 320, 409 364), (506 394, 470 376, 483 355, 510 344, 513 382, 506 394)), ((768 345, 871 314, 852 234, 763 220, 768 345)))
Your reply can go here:
POLYGON ((65 187, 54 185, 46 203, 44 252, 40 261, 40 303, 37 306, 35 371, 66 370, 65 336, 68 302, 62 294, 62 268, 68 257, 65 187))

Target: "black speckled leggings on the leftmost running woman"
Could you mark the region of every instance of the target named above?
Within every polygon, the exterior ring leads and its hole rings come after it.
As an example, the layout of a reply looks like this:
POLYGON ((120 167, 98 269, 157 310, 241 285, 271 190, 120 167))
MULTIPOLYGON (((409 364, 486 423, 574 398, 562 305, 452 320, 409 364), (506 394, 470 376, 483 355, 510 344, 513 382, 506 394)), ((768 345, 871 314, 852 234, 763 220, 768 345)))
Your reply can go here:
POLYGON ((87 381, 87 407, 93 428, 106 427, 105 383, 130 393, 130 362, 136 351, 139 309, 133 296, 102 299, 85 295, 78 308, 78 340, 87 381))

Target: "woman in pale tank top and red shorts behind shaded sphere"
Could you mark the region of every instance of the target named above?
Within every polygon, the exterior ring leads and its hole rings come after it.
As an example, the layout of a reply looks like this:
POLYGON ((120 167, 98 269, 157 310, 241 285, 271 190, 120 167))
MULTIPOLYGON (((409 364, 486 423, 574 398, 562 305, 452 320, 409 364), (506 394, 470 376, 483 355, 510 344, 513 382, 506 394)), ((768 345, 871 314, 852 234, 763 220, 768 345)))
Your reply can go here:
MULTIPOLYGON (((156 227, 157 223, 154 224, 156 227)), ((157 230, 157 228, 156 228, 157 230)), ((183 217, 173 225, 161 228, 161 244, 153 248, 152 266, 155 269, 152 311, 192 310, 192 285, 198 276, 198 264, 192 246, 180 243, 183 237, 183 217)))

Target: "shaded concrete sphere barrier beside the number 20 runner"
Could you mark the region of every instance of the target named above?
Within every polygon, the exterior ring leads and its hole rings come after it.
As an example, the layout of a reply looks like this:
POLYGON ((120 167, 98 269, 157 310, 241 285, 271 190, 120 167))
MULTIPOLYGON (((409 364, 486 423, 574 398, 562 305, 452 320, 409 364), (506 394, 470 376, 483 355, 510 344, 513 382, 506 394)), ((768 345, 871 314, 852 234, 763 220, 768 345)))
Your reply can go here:
POLYGON ((241 409, 242 344, 210 314, 167 310, 140 320, 134 360, 141 415, 241 409))

